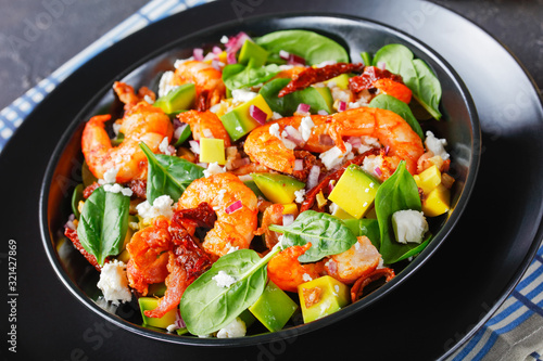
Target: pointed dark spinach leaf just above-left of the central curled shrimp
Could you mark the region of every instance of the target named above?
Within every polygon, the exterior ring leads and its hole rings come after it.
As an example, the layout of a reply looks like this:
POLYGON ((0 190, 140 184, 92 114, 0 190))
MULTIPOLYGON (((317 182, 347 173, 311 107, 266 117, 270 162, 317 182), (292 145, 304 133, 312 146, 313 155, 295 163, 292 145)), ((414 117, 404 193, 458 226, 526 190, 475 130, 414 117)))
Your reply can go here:
POLYGON ((186 159, 165 154, 154 154, 149 146, 140 143, 149 160, 147 173, 147 199, 154 199, 167 194, 176 202, 193 180, 203 177, 203 168, 186 159))

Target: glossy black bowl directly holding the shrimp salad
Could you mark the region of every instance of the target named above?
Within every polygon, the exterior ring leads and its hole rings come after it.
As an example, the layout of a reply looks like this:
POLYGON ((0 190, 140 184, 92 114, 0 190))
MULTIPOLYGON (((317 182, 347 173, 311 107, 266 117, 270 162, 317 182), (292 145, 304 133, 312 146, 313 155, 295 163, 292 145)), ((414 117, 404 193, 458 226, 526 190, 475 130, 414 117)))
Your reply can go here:
MULTIPOLYGON (((103 83, 102 91, 90 99, 87 106, 78 114, 66 129, 50 159, 41 188, 40 227, 43 245, 59 278, 70 292, 93 312, 105 320, 130 332, 147 337, 186 345, 243 346, 289 338, 292 335, 312 332, 355 313, 363 313, 365 308, 394 291, 409 275, 418 270, 446 240, 468 204, 473 188, 480 156, 480 127, 473 102, 464 82, 439 54, 427 46, 402 31, 388 26, 361 20, 323 14, 283 15, 277 17, 253 17, 230 22, 182 37, 149 56, 135 60, 134 66, 119 74, 116 79, 103 83), (177 336, 140 326, 141 319, 135 302, 119 307, 116 314, 109 313, 94 300, 101 295, 96 284, 98 272, 81 255, 70 245, 63 244, 62 230, 71 214, 70 197, 73 188, 80 183, 83 155, 80 137, 85 121, 97 113, 114 112, 114 98, 111 91, 113 80, 123 80, 135 88, 149 86, 157 74, 173 68, 176 59, 191 55, 192 48, 205 48, 218 42, 223 35, 233 35, 243 30, 258 36, 279 29, 303 28, 328 36, 349 49, 353 62, 361 61, 359 53, 375 53, 387 43, 402 43, 408 47, 416 57, 422 59, 434 70, 441 81, 443 98, 441 121, 431 120, 425 129, 432 130, 438 137, 449 141, 452 156, 450 173, 456 179, 452 189, 451 211, 434 222, 435 234, 428 247, 412 262, 403 265, 397 275, 389 283, 372 292, 362 300, 321 320, 292 326, 276 333, 262 333, 233 339, 210 339, 192 336, 177 336)), ((390 295, 393 297, 393 295, 390 295)))

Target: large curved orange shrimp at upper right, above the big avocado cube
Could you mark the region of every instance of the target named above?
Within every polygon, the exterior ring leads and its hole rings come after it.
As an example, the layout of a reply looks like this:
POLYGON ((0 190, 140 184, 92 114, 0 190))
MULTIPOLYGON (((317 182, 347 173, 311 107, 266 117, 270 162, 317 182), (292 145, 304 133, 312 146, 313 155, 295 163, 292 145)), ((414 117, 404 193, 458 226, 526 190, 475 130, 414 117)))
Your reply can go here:
POLYGON ((415 175, 417 160, 425 153, 420 137, 397 114, 391 111, 358 107, 336 113, 329 127, 329 136, 345 152, 342 137, 369 136, 389 149, 388 156, 406 162, 407 170, 415 175))

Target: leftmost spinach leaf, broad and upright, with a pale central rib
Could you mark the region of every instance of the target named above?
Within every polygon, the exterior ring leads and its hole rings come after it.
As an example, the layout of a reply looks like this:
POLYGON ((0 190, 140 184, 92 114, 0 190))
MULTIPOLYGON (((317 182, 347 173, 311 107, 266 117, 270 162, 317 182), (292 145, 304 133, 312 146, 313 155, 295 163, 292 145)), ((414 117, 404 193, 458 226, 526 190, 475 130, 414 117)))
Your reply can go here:
POLYGON ((83 206, 77 235, 83 247, 103 265, 108 256, 116 256, 123 248, 128 229, 130 197, 105 192, 100 186, 83 206))

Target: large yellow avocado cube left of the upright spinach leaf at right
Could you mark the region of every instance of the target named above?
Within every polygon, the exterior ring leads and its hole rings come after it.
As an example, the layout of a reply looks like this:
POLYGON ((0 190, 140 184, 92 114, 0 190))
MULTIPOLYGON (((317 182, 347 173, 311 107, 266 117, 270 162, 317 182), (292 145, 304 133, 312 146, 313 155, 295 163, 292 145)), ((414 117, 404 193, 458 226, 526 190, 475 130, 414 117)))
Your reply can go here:
POLYGON ((359 219, 372 205, 379 185, 379 180, 352 164, 346 167, 328 199, 359 219))

